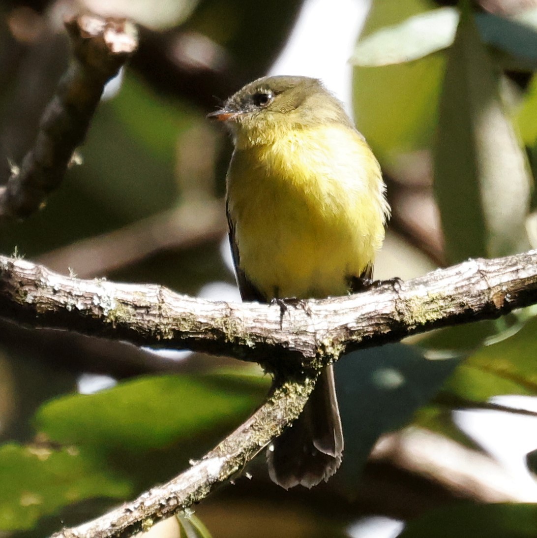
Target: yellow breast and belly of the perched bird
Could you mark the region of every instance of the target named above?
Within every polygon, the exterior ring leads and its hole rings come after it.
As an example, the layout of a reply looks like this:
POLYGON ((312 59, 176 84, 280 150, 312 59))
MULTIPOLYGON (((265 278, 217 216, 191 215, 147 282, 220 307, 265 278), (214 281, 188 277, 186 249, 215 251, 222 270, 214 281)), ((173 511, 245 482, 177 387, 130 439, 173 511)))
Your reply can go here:
POLYGON ((228 207, 240 266, 267 298, 345 294, 373 263, 388 213, 373 153, 334 126, 236 150, 228 207))

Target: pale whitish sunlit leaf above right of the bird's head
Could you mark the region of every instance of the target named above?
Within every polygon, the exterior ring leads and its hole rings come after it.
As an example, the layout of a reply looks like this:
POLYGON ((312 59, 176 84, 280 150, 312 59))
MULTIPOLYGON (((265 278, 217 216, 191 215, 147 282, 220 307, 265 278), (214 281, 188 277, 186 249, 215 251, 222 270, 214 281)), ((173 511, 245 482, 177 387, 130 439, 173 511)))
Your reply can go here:
POLYGON ((418 60, 449 47, 457 23, 459 11, 455 8, 439 8, 409 17, 358 41, 350 63, 378 67, 418 60))

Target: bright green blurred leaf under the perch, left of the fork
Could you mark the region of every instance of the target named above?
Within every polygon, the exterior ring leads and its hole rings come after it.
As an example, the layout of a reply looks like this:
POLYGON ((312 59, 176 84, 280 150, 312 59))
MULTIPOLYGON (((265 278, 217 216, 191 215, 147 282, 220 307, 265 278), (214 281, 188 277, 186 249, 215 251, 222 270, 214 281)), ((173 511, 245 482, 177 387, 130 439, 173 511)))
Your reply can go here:
POLYGON ((253 410, 268 379, 238 376, 144 377, 90 395, 53 400, 35 422, 49 438, 96 449, 166 447, 253 410))

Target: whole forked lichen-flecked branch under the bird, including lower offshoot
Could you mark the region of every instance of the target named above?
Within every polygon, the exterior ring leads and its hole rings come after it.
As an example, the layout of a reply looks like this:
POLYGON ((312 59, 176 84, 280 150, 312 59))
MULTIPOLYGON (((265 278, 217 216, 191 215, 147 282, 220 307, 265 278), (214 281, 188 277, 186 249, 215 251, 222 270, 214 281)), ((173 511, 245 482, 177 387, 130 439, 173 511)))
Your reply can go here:
POLYGON ((201 500, 296 419, 317 372, 343 353, 495 318, 535 302, 537 251, 469 260, 407 282, 309 300, 285 312, 278 305, 189 298, 162 286, 79 280, 0 256, 0 316, 33 327, 223 353, 255 360, 279 374, 267 402, 200 462, 168 484, 55 538, 131 536, 201 500))

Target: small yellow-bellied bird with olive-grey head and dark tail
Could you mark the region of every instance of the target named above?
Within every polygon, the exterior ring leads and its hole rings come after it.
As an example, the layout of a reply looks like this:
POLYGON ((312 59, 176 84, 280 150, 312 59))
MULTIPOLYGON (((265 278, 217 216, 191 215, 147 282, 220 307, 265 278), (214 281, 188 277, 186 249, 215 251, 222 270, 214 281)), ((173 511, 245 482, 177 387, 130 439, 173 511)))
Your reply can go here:
MULTIPOLYGON (((389 216, 380 166, 317 79, 263 77, 210 118, 231 129, 227 218, 244 301, 326 298, 371 279, 389 216)), ((332 366, 268 451, 270 478, 312 487, 339 468, 343 433, 332 366)))

